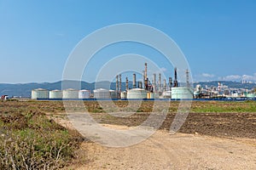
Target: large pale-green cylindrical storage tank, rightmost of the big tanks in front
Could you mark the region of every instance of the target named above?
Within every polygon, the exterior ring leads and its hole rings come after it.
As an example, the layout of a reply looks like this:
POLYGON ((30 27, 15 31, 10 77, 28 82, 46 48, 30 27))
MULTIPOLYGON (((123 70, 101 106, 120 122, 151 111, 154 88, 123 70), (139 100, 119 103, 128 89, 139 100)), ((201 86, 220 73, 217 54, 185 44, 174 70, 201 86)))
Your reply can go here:
POLYGON ((190 88, 172 88, 172 99, 193 99, 193 92, 190 88))

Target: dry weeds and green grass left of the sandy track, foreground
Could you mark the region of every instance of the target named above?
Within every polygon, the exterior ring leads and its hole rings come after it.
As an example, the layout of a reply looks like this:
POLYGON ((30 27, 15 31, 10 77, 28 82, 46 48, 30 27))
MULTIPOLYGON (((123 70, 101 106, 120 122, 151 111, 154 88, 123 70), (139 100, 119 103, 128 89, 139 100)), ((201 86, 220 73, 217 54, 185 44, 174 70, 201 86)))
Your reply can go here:
POLYGON ((0 169, 58 169, 75 156, 82 138, 43 112, 2 108, 0 169))

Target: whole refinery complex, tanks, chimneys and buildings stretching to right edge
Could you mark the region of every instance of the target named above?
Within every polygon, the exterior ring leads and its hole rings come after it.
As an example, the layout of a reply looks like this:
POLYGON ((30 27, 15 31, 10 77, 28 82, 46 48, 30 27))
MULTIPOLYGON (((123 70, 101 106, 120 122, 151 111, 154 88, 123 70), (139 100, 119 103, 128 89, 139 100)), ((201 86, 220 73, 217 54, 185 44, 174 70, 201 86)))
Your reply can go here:
POLYGON ((132 88, 129 88, 128 77, 125 77, 125 91, 122 91, 122 75, 115 77, 115 89, 97 88, 92 92, 87 89, 67 88, 64 90, 48 90, 37 88, 32 90, 32 99, 38 100, 245 100, 256 99, 256 94, 247 89, 232 89, 218 82, 216 87, 201 87, 197 84, 195 88, 190 87, 189 70, 187 69, 186 82, 177 80, 177 68, 174 68, 174 78, 168 77, 162 80, 161 74, 152 75, 148 78, 148 65, 145 63, 143 70, 143 81, 137 81, 137 74, 132 75, 132 88), (157 80, 158 77, 158 80, 157 80), (167 82, 168 81, 168 82, 167 82))

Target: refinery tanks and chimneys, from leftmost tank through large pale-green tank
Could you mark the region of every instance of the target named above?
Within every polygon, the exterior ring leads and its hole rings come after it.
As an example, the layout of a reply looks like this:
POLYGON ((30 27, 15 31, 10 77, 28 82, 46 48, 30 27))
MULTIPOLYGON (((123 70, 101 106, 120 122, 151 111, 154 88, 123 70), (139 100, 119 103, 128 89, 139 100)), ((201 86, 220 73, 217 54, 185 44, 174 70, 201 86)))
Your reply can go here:
MULTIPOLYGON (((32 90, 32 99, 193 99, 193 89, 189 87, 189 78, 187 79, 187 87, 179 87, 177 81, 177 68, 174 69, 174 79, 161 79, 161 74, 153 74, 153 80, 150 82, 148 78, 148 65, 145 63, 143 70, 143 81, 137 82, 137 75, 133 73, 132 88, 129 88, 128 77, 125 77, 125 91, 122 91, 122 75, 116 76, 115 90, 98 88, 93 90, 73 89, 64 90, 47 90, 43 88, 32 90)), ((186 71, 187 77, 189 71, 186 71)))

